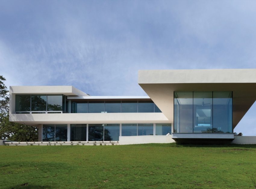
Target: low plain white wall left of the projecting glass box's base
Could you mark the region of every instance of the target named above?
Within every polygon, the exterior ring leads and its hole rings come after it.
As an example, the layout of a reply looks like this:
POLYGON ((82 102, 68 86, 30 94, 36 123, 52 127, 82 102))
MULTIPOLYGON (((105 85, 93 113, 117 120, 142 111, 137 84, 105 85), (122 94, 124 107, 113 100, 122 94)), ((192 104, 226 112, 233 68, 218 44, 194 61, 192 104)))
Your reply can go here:
POLYGON ((119 137, 119 144, 148 144, 148 143, 175 143, 172 136, 129 136, 129 137, 119 137))

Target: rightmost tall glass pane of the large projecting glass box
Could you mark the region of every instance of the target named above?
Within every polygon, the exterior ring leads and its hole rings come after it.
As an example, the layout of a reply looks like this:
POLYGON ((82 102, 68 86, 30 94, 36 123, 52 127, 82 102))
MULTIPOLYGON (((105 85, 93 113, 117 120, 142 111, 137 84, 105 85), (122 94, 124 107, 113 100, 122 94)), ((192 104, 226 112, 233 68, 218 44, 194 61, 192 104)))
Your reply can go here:
POLYGON ((232 92, 213 92, 213 132, 232 133, 232 92))

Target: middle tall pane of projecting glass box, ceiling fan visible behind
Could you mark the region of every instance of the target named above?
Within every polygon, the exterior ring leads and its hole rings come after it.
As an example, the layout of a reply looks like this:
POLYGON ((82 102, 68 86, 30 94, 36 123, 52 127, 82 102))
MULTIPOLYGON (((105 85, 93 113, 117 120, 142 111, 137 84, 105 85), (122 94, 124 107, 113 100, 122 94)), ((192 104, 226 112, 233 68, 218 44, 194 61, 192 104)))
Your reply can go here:
POLYGON ((193 95, 193 132, 212 133, 212 92, 194 92, 193 95))

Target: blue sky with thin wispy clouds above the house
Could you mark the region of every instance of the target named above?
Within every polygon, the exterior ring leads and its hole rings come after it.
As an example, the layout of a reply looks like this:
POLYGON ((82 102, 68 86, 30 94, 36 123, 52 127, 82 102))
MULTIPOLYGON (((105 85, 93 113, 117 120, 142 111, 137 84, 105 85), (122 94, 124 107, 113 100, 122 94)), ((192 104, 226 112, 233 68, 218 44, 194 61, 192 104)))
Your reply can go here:
MULTIPOLYGON (((256 1, 0 0, 5 85, 146 95, 138 70, 256 68, 256 1)), ((256 136, 256 103, 234 132, 256 136)))

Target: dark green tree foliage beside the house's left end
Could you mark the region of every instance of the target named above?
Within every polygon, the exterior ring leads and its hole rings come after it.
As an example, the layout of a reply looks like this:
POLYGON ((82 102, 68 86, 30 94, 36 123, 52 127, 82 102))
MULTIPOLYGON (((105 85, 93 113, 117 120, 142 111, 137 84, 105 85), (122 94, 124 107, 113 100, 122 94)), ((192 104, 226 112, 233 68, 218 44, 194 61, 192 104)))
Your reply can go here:
POLYGON ((38 141, 36 127, 9 122, 9 91, 4 81, 5 78, 0 76, 0 138, 18 142, 38 141))

